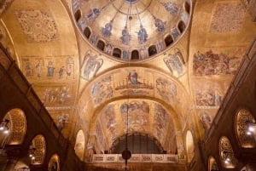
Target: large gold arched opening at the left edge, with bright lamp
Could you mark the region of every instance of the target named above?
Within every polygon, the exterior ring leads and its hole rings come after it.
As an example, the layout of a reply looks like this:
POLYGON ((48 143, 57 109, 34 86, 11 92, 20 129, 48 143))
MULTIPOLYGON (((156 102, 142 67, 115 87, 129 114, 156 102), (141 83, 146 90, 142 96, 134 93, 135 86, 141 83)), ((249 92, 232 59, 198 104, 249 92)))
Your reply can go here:
POLYGON ((11 109, 3 117, 0 129, 1 145, 20 145, 26 134, 26 116, 24 111, 15 108, 11 109))

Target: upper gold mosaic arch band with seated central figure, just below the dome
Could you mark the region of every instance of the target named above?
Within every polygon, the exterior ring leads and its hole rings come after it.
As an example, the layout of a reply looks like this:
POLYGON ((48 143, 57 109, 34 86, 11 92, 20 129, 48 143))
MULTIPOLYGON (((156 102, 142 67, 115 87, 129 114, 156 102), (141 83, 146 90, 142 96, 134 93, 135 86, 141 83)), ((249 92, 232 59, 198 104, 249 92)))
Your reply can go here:
POLYGON ((90 122, 93 117, 91 111, 107 101, 126 98, 128 95, 131 99, 143 96, 146 99, 162 100, 178 113, 180 121, 186 119, 189 111, 189 95, 182 83, 179 83, 175 77, 143 67, 124 67, 122 70, 115 69, 96 77, 93 83, 84 88, 79 100, 84 103, 81 102, 79 108, 83 110, 84 117, 90 122), (90 95, 90 99, 85 101, 83 98, 87 95, 90 95), (87 110, 84 110, 85 107, 87 110))

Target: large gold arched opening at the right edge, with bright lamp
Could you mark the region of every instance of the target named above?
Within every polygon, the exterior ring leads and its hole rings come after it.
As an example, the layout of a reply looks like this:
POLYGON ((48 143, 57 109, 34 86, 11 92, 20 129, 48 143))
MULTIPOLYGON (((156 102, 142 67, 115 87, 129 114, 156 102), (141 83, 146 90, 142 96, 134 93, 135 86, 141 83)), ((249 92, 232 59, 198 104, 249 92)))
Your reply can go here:
POLYGON ((236 136, 244 148, 256 147, 256 123, 250 111, 241 109, 236 114, 236 136))

